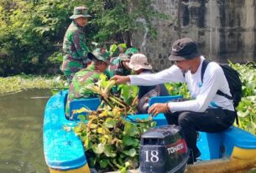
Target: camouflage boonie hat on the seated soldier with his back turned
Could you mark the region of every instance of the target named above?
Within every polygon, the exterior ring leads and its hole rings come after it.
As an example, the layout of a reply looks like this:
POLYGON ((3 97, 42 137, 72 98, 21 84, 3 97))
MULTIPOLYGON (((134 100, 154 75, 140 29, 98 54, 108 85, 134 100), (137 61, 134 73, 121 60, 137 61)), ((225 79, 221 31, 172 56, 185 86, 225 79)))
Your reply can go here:
POLYGON ((110 62, 110 53, 107 52, 105 48, 96 48, 95 50, 92 51, 92 53, 87 53, 88 59, 93 59, 96 58, 98 60, 101 60, 108 65, 112 65, 110 62))

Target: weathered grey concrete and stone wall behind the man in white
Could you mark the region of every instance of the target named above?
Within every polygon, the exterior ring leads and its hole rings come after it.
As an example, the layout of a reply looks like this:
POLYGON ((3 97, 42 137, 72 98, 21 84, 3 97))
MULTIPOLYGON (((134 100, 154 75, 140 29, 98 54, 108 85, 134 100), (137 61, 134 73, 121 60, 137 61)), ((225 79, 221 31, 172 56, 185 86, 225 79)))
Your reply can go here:
POLYGON ((171 44, 184 37, 194 39, 208 59, 256 61, 256 0, 154 0, 152 6, 171 19, 153 21, 157 38, 145 37, 145 28, 134 33, 133 43, 154 69, 170 67, 171 44))

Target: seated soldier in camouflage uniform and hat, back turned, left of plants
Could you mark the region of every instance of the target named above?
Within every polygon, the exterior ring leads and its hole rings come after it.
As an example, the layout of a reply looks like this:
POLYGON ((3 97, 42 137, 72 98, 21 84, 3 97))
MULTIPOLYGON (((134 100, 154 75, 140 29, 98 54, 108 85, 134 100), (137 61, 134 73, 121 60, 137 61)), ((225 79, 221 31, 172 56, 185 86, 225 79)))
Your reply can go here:
POLYGON ((91 64, 86 69, 81 69, 77 72, 72 79, 65 106, 66 117, 70 116, 70 103, 72 100, 97 97, 97 94, 85 87, 88 84, 97 83, 100 75, 111 64, 109 53, 103 48, 96 48, 92 53, 88 53, 88 58, 91 59, 91 64))

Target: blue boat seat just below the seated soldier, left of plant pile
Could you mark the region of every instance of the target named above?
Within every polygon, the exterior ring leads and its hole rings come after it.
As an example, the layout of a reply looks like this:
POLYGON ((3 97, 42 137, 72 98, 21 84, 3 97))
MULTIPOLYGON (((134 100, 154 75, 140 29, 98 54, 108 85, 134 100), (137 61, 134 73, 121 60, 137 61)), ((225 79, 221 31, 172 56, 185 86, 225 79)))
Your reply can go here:
MULTIPOLYGON (((97 110, 100 103, 101 101, 99 98, 72 100, 70 103, 70 114, 72 113, 73 110, 81 109, 82 107, 86 107, 87 109, 91 109, 91 110, 97 110)), ((85 112, 80 114, 86 115, 85 112)), ((77 119, 78 115, 79 114, 73 114, 73 120, 78 120, 77 119)))

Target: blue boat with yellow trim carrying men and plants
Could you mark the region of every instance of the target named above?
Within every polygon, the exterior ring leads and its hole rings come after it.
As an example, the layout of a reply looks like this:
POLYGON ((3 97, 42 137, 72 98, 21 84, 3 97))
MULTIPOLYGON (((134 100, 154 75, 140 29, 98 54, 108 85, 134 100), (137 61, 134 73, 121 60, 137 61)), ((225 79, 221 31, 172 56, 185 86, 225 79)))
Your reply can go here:
MULTIPOLYGON (((68 91, 53 95, 44 110, 44 158, 50 173, 90 173, 81 140, 64 127, 76 125, 66 120, 65 102, 68 91)), ((177 96, 154 97, 150 104, 166 102, 177 96)), ((72 109, 87 106, 97 109, 99 99, 81 99, 71 102, 72 109)), ((132 115, 130 119, 144 119, 148 114, 132 115)), ((157 125, 167 125, 164 114, 154 117, 157 125)), ((186 172, 235 172, 256 165, 256 136, 232 126, 222 133, 200 132, 197 146, 201 150, 198 164, 187 166, 186 172)))

